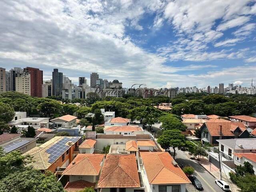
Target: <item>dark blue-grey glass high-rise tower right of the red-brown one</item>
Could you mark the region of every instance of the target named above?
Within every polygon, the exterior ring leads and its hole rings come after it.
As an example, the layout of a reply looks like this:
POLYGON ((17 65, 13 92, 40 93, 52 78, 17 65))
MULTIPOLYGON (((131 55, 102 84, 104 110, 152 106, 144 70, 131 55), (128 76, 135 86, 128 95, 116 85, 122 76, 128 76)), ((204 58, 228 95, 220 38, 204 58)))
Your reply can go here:
POLYGON ((52 95, 59 96, 63 89, 63 74, 58 72, 58 69, 53 69, 52 72, 52 95))

